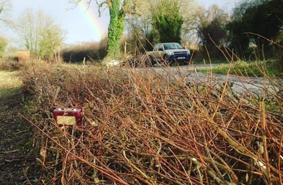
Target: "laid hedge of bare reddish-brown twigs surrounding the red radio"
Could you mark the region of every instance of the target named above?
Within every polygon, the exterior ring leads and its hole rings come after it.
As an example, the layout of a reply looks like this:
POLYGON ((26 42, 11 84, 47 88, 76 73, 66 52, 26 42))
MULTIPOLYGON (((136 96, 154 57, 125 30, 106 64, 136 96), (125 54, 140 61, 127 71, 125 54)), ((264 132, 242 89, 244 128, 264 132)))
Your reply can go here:
POLYGON ((26 70, 39 182, 281 184, 281 84, 274 79, 278 91, 263 87, 255 97, 212 76, 189 83, 166 71, 42 63, 26 70), (59 128, 57 107, 83 107, 84 126, 59 128))

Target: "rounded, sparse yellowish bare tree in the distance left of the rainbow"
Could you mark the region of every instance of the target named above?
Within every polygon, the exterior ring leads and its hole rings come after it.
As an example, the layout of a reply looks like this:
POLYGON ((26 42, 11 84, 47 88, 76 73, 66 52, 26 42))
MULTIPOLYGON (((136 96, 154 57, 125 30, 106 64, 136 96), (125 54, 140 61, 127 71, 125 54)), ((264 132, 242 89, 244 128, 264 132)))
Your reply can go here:
POLYGON ((64 38, 60 26, 42 11, 34 13, 32 9, 24 10, 13 27, 22 39, 24 48, 41 57, 52 55, 64 38))

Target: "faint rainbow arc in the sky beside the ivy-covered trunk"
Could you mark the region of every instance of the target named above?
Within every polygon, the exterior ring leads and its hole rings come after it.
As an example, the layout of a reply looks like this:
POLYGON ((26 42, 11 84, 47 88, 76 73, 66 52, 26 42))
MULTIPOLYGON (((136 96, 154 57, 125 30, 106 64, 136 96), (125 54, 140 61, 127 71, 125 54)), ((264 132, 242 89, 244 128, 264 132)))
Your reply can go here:
POLYGON ((101 41, 105 36, 106 31, 103 29, 104 27, 99 22, 98 15, 95 13, 96 11, 88 7, 85 0, 79 2, 78 8, 80 9, 80 11, 82 11, 87 20, 87 23, 89 24, 89 27, 93 31, 93 40, 101 41))

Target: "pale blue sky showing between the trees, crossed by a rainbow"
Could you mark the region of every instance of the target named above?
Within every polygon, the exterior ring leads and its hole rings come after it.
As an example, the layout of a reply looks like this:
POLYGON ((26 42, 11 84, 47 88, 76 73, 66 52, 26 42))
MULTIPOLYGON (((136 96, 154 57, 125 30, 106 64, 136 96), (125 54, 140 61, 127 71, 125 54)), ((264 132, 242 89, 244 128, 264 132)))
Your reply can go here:
MULTIPOLYGON (((1 1, 1 0, 0 0, 1 1)), ((78 44, 82 42, 100 41, 107 35, 109 25, 108 10, 102 12, 99 17, 95 1, 86 9, 85 3, 74 7, 68 0, 11 0, 13 7, 11 18, 16 20, 27 8, 34 12, 40 10, 51 16, 58 25, 66 31, 64 42, 67 44, 78 44)), ((84 0, 86 1, 86 0, 84 0)), ((220 8, 231 10, 235 3, 240 0, 196 0, 198 4, 208 8, 217 4, 220 8)), ((0 35, 8 38, 13 36, 9 28, 1 26, 0 35)), ((16 39, 16 38, 15 38, 16 39)))

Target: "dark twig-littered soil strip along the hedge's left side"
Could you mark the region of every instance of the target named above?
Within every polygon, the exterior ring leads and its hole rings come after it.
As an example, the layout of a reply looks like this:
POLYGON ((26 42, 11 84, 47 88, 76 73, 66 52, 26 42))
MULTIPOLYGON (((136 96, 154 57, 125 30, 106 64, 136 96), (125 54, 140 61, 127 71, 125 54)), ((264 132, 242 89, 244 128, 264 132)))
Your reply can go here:
MULTIPOLYGON (((0 79, 5 80, 5 79, 0 79)), ((11 92, 13 89, 11 89, 11 92)), ((38 184, 41 166, 33 143, 33 128, 25 114, 21 90, 0 96, 0 184, 38 184)))

